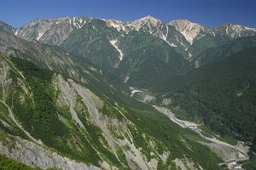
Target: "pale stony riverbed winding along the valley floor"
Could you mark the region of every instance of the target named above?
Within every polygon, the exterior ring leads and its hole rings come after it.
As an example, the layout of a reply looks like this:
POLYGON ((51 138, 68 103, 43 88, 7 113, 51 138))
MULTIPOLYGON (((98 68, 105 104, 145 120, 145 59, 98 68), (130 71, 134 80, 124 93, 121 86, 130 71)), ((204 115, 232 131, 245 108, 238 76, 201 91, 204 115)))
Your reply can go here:
MULTIPOLYGON (((143 90, 131 88, 131 97, 136 93, 143 93, 143 90)), ((141 100, 141 99, 140 99, 141 100)), ((143 101, 143 100, 141 100, 143 101)), ((183 121, 178 119, 171 110, 157 105, 152 105, 157 111, 169 117, 172 122, 177 123, 180 127, 187 127, 197 133, 204 141, 198 141, 201 144, 207 145, 214 153, 216 153, 224 162, 219 163, 219 166, 226 165, 229 169, 243 169, 239 161, 246 161, 249 159, 248 151, 249 146, 239 141, 236 145, 228 144, 224 141, 216 139, 211 135, 207 137, 203 130, 200 128, 201 124, 195 122, 183 121)))

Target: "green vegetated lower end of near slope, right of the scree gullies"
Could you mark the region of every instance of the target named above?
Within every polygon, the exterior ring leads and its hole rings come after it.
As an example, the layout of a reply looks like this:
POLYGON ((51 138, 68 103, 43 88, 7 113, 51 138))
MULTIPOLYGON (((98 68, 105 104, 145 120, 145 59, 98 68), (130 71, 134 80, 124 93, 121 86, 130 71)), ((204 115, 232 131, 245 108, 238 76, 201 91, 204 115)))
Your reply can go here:
POLYGON ((170 150, 170 156, 168 157, 166 167, 172 165, 172 160, 175 158, 182 159, 186 156, 193 161, 198 162, 204 169, 219 169, 217 163, 220 162, 220 159, 213 154, 210 149, 198 144, 194 139, 191 140, 186 137, 191 131, 178 127, 166 118, 166 116, 163 116, 158 112, 137 111, 131 108, 128 109, 128 111, 129 115, 125 116, 137 125, 138 131, 132 132, 135 136, 137 146, 141 146, 143 149, 146 149, 145 147, 147 147, 143 146, 143 139, 140 139, 141 134, 139 132, 141 131, 143 133, 148 133, 148 135, 154 137, 154 139, 160 140, 161 144, 166 145, 167 150, 170 150), (182 134, 182 138, 186 143, 189 144, 191 150, 186 147, 186 144, 184 144, 183 141, 177 138, 180 134, 182 134))

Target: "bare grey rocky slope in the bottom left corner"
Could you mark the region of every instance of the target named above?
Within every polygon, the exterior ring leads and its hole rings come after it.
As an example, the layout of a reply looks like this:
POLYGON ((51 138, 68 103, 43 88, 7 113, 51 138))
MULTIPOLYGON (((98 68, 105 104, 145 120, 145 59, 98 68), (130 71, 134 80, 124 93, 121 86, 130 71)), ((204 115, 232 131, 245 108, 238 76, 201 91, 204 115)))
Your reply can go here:
POLYGON ((40 167, 43 169, 55 167, 67 170, 100 170, 99 167, 87 166, 84 163, 73 161, 57 154, 55 151, 46 150, 39 144, 26 139, 20 139, 20 137, 0 141, 0 153, 31 167, 40 167))

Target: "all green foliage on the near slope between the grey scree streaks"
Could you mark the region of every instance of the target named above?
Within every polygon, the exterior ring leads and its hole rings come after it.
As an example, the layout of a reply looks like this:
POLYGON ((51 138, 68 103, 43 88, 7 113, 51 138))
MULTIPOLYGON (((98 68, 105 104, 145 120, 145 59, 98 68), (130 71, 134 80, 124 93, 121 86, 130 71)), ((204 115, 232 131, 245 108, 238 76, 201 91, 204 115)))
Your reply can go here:
MULTIPOLYGON (((27 61, 23 62, 22 59, 12 59, 12 61, 25 75, 25 82, 27 83, 26 88, 29 89, 29 94, 25 95, 26 102, 20 102, 20 95, 24 95, 24 92, 22 93, 21 88, 14 86, 15 88, 10 91, 7 102, 9 105, 14 105, 13 110, 15 116, 19 118, 22 126, 24 126, 32 136, 41 139, 45 144, 61 152, 62 155, 75 160, 98 165, 98 161, 101 160, 100 157, 102 157, 103 160, 110 162, 110 164, 116 167, 123 167, 116 156, 108 151, 108 144, 102 136, 100 129, 88 121, 86 106, 78 113, 79 119, 83 122, 86 130, 73 123, 73 120, 68 114, 69 111, 67 107, 60 108, 60 106, 56 106, 56 92, 51 86, 51 71, 40 69, 27 61), (47 111, 42 108, 46 108, 47 111), (67 119, 67 126, 65 126, 66 124, 64 124, 64 122, 59 120, 58 115, 67 119), (49 122, 51 122, 50 125, 48 122, 45 122, 45 120, 49 118, 52 119, 49 120, 49 122), (40 122, 41 124, 36 124, 35 122, 40 122), (51 136, 46 136, 45 133, 51 129, 53 130, 49 132, 51 136), (55 132, 55 129, 60 130, 60 132, 55 132), (97 151, 99 151, 99 153, 97 153, 97 151)), ((15 74, 16 73, 13 73, 14 80, 15 74)), ((14 83, 17 83, 17 80, 16 82, 14 81, 14 83)), ((102 84, 96 84, 92 89, 99 87, 102 87, 102 84)), ((112 88, 108 87, 107 89, 112 88)), ((101 94, 101 90, 96 90, 96 93, 101 94)), ((113 93, 113 91, 109 93, 113 93)), ((143 133, 159 141, 156 142, 156 149, 160 151, 160 153, 162 153, 163 150, 170 150, 171 156, 168 158, 167 165, 172 164, 172 160, 177 157, 183 158, 184 156, 188 156, 195 162, 202 164, 202 167, 218 169, 217 157, 213 155, 210 150, 202 147, 201 144, 186 139, 185 135, 188 132, 170 122, 166 116, 154 111, 153 108, 148 105, 143 105, 138 101, 126 97, 125 94, 122 93, 113 94, 113 98, 111 99, 119 99, 119 103, 122 105, 117 106, 112 102, 107 102, 108 107, 105 108, 106 111, 110 111, 114 116, 120 116, 118 114, 120 110, 131 122, 135 123, 137 130, 130 127, 131 130, 133 130, 131 133, 134 136, 135 144, 137 147, 141 146, 143 148, 143 153, 147 156, 148 160, 151 158, 147 143, 148 139, 145 140, 143 138, 143 133), (124 97, 124 99, 120 99, 122 97, 124 97), (124 105, 131 105, 132 107, 128 108, 124 105), (177 138, 179 135, 182 135, 182 138, 186 140, 186 145, 189 144, 191 150, 186 147, 183 141, 177 138), (200 159, 197 150, 201 150, 200 154, 205 154, 207 158, 209 158, 207 164, 205 164, 206 160, 200 159)), ((122 156, 119 153, 119 158, 120 157, 122 156)), ((122 163, 125 164, 123 161, 122 163)))

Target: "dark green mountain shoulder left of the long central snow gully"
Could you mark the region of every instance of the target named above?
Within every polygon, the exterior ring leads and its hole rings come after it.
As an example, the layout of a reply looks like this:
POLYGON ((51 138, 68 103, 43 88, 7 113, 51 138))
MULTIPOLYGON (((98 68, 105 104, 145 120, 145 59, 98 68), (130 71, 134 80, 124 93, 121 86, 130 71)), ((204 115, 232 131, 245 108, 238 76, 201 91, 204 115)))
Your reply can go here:
POLYGON ((103 20, 90 20, 74 31, 61 47, 100 69, 111 70, 119 64, 119 53, 110 41, 118 37, 121 37, 120 33, 103 20))

